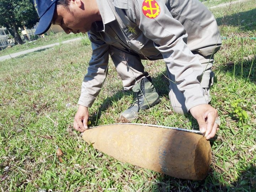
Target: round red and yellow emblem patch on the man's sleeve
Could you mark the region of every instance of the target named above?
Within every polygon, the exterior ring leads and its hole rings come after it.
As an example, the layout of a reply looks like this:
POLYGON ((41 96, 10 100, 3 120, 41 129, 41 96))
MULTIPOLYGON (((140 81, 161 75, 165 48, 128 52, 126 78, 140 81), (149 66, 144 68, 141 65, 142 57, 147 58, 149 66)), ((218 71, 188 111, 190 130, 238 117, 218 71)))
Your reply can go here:
POLYGON ((160 14, 160 7, 155 0, 145 0, 142 4, 143 14, 148 18, 156 18, 160 14))

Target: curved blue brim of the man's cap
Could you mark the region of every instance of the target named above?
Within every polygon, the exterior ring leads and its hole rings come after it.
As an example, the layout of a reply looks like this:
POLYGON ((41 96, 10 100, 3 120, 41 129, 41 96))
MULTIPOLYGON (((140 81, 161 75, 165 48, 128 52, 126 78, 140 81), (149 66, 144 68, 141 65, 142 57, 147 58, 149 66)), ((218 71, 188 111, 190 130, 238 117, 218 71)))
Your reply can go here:
POLYGON ((38 26, 34 34, 43 34, 47 32, 51 26, 55 11, 55 3, 49 8, 49 10, 40 18, 38 26))

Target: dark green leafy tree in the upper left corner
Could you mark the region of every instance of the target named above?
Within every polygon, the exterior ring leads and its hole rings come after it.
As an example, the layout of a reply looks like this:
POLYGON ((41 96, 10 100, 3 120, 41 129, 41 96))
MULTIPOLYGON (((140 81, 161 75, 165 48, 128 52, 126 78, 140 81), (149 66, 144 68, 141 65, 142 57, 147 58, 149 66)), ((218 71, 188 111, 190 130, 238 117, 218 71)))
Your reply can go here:
POLYGON ((0 26, 6 27, 18 44, 22 44, 18 28, 32 28, 38 21, 33 0, 0 1, 0 26))

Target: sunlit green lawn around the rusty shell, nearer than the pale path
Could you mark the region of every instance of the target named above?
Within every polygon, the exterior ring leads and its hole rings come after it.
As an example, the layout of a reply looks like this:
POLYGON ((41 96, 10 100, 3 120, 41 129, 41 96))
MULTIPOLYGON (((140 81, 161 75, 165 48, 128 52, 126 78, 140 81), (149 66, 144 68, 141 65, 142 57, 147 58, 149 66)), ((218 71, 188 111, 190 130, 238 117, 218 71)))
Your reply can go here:
MULTIPOLYGON (((173 178, 119 162, 82 140, 73 118, 91 48, 74 42, 0 62, 0 191, 256 191, 256 41, 247 38, 256 28, 246 25, 251 22, 246 12, 255 10, 252 2, 243 4, 250 9, 212 10, 228 38, 215 55, 211 105, 222 124, 210 141, 212 162, 204 180, 173 178), (245 22, 235 22, 234 16, 245 22), (56 155, 58 147, 62 157, 56 155)), ((163 61, 145 61, 145 70, 161 102, 134 122, 198 129, 190 115, 171 110, 163 61)), ((132 99, 131 92, 122 91, 110 62, 89 111, 91 126, 122 122, 119 114, 132 99)))

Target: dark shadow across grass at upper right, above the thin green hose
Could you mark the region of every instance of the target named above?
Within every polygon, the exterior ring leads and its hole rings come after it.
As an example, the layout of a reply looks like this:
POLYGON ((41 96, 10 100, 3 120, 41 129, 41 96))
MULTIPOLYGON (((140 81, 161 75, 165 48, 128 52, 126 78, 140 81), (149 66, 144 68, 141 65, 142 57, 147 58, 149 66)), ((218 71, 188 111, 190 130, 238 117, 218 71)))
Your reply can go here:
POLYGON ((241 31, 256 30, 256 9, 216 18, 218 25, 238 26, 241 31))

